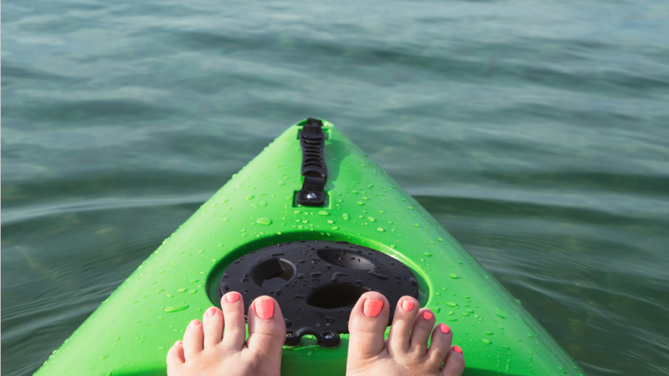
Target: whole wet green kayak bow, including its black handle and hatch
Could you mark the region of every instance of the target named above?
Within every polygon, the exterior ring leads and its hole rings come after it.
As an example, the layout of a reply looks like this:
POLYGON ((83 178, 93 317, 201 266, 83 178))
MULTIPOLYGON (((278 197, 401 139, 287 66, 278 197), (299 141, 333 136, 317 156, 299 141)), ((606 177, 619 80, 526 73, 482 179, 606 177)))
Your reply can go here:
POLYGON ((233 175, 36 374, 165 375, 167 350, 228 290, 246 294, 247 308, 260 293, 277 297, 284 376, 344 375, 347 310, 369 290, 431 308, 463 348, 465 375, 585 375, 383 169, 311 118, 233 175), (305 278, 312 264, 325 266, 305 278))

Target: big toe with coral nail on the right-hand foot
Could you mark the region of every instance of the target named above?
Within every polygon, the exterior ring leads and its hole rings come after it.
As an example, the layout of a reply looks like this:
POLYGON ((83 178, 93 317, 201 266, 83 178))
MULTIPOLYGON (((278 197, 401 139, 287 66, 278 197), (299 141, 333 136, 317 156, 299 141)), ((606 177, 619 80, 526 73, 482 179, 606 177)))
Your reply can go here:
POLYGON ((349 359, 375 357, 384 350, 389 306, 388 299, 375 291, 360 296, 349 320, 349 359))

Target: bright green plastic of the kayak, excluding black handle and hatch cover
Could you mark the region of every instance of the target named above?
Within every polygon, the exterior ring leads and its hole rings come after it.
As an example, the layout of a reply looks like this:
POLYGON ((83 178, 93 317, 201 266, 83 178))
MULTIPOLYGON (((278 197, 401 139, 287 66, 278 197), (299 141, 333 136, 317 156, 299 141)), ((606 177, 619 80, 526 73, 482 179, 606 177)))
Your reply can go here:
MULTIPOLYGON (((325 207, 300 207, 302 152, 290 127, 204 203, 65 340, 38 375, 165 375, 167 350, 218 305, 238 257, 300 239, 349 241, 413 270, 421 305, 448 324, 465 375, 585 375, 433 217, 336 127, 324 122, 325 207)), ((281 375, 344 375, 348 335, 325 349, 284 348, 281 375)))

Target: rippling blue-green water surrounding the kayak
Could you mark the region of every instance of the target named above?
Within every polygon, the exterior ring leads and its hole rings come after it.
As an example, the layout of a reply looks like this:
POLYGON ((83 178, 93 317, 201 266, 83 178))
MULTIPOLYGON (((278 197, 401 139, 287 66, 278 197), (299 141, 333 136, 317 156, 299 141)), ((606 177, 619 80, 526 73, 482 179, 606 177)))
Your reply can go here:
POLYGON ((3 1, 1 368, 338 125, 589 375, 669 375, 669 4, 3 1))

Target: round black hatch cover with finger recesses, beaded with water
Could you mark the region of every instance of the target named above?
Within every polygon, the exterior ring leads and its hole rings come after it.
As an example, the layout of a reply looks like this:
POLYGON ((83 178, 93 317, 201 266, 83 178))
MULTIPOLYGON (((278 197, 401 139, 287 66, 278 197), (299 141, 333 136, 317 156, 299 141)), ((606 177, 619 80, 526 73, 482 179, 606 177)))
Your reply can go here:
POLYGON ((367 291, 388 298, 390 325, 399 298, 418 298, 418 282, 404 263, 374 249, 346 241, 300 240, 267 246, 234 261, 218 284, 218 301, 228 291, 243 294, 247 314, 258 296, 275 298, 294 344, 302 328, 348 333, 353 305, 367 291))

